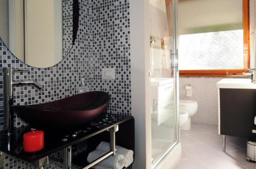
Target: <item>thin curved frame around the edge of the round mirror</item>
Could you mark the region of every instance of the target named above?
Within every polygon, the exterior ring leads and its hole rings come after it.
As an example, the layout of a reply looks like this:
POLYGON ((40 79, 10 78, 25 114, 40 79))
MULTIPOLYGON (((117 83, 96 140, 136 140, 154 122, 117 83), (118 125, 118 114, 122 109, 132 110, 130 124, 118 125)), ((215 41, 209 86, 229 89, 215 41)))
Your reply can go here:
MULTIPOLYGON (((78 27, 79 27, 79 11, 80 11, 80 8, 79 8, 79 0, 73 0, 73 5, 72 5, 72 8, 73 8, 73 17, 72 17, 72 21, 73 21, 73 25, 72 25, 72 28, 73 28, 73 32, 72 32, 72 44, 71 44, 71 47, 70 49, 68 50, 68 53, 62 57, 62 59, 56 63, 55 65, 52 65, 52 66, 49 66, 49 67, 53 67, 53 66, 56 66, 57 64, 59 64, 63 59, 65 59, 71 49, 74 47, 75 45, 75 41, 76 41, 76 38, 77 38, 77 33, 78 33, 78 27)), ((2 43, 6 46, 5 42, 3 41, 3 39, 1 38, 0 36, 0 40, 2 41, 2 43)), ((19 60, 15 54, 12 53, 12 51, 6 46, 6 48, 11 52, 11 54, 17 59, 19 60)), ((22 62, 23 64, 29 66, 29 67, 34 67, 34 68, 38 68, 38 67, 35 67, 35 66, 31 66, 31 65, 28 65, 26 64, 25 62, 19 60, 20 62, 22 62)), ((41 67, 41 68, 38 68, 38 69, 45 69, 45 68, 49 68, 49 67, 41 67)))

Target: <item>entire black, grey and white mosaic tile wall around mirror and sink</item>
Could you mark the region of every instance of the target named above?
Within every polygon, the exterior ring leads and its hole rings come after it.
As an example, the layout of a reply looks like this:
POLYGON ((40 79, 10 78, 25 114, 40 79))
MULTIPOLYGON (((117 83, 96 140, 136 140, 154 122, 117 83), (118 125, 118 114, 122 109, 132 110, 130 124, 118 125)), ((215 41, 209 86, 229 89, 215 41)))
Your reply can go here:
MULTIPOLYGON (((70 5, 71 0, 63 0, 70 5)), ((37 104, 65 98, 77 93, 82 77, 90 90, 109 92, 112 96, 108 112, 131 115, 130 20, 126 0, 79 0, 79 30, 75 46, 68 57, 50 68, 34 68, 17 60, 0 41, 0 130, 3 130, 2 67, 29 68, 16 73, 14 80, 35 80, 44 86, 14 88, 14 104, 37 104), (101 80, 101 68, 115 68, 115 80, 101 80)), ((65 8, 68 11, 69 7, 65 8)), ((72 14, 67 13, 67 17, 72 14)), ((15 126, 24 121, 15 117, 15 126)), ((60 156, 58 153, 57 156, 60 156)), ((5 168, 33 168, 12 156, 5 156, 5 168)), ((47 168, 60 168, 50 164, 47 168)))

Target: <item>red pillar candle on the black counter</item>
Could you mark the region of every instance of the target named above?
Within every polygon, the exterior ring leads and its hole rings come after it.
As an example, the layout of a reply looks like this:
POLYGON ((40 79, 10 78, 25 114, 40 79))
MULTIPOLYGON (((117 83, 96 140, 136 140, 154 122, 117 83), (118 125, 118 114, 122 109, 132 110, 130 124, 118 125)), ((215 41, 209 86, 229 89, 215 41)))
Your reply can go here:
POLYGON ((44 148, 44 131, 34 130, 23 135, 23 150, 36 152, 44 148))

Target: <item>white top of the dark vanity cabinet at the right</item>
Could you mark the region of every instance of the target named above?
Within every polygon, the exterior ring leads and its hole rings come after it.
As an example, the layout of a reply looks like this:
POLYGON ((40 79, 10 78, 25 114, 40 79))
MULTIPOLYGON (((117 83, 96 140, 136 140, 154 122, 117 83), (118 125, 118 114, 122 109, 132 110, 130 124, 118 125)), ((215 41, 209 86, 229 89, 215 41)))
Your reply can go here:
POLYGON ((249 78, 224 78, 217 82, 217 88, 256 89, 256 84, 253 84, 249 78))

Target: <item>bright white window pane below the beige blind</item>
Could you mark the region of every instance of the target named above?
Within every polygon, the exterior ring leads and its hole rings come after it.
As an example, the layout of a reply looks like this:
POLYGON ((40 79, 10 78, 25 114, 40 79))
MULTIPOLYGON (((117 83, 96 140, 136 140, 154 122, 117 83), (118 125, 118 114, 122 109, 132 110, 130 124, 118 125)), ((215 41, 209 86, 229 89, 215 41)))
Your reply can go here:
POLYGON ((243 69, 243 30, 179 36, 180 70, 243 69))

